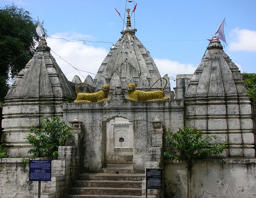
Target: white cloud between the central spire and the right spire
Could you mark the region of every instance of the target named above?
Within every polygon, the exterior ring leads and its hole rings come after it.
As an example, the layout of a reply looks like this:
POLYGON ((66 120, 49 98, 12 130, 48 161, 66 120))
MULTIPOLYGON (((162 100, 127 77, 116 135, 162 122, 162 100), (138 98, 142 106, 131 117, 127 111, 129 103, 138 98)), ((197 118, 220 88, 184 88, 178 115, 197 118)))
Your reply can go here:
MULTIPOLYGON (((154 58, 154 61, 161 76, 168 74, 168 77, 173 77, 174 79, 176 79, 177 74, 193 74, 197 68, 192 64, 183 64, 168 59, 154 58)), ((170 81, 170 83, 172 88, 176 86, 175 82, 170 81)))

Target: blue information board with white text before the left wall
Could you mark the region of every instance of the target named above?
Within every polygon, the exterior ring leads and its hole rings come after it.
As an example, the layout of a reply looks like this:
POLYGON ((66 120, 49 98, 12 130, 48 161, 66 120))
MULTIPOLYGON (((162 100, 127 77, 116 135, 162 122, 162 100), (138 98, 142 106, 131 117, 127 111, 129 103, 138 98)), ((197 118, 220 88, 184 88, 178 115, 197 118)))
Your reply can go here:
POLYGON ((51 181, 51 160, 30 160, 29 181, 51 181))

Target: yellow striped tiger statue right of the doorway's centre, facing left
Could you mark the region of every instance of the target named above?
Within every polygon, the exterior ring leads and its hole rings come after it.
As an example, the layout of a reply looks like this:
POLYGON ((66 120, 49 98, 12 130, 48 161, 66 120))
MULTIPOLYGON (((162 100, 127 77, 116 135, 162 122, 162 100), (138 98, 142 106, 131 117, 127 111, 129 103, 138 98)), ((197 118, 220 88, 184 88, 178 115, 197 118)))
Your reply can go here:
POLYGON ((127 100, 132 101, 139 101, 139 100, 146 100, 146 101, 156 101, 156 100, 169 100, 164 95, 162 90, 157 91, 140 91, 136 90, 135 83, 130 83, 127 85, 127 92, 129 94, 129 98, 125 98, 127 100))

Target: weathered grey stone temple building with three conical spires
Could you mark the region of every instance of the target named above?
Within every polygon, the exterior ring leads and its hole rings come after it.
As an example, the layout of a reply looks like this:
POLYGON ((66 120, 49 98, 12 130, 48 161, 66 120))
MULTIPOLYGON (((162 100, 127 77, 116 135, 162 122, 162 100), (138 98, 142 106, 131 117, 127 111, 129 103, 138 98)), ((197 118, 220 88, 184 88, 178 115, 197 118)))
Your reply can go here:
MULTIPOLYGON (((128 83, 135 82, 137 89, 147 90, 160 78, 154 60, 135 36, 129 18, 115 46, 117 49, 107 54, 95 79, 91 76, 85 79, 94 91, 109 83, 110 100, 73 103, 75 86, 81 80, 77 76, 72 82, 66 79, 42 37, 33 58, 6 96, 2 146, 8 155, 30 156, 27 152, 31 145, 25 138, 31 125, 39 126, 41 116, 63 117, 67 123, 76 117, 82 123, 80 135, 75 136, 79 137, 80 171, 99 173, 108 164, 132 164, 134 173, 144 173, 145 168, 163 168, 164 195, 159 190, 152 193, 166 198, 187 197, 187 186, 183 185, 185 164, 163 159, 162 153, 169 150, 163 141, 168 129, 177 131, 178 127, 190 125, 202 130, 205 136, 216 135, 217 143, 228 143, 217 159, 194 165, 190 181, 194 188, 190 195, 207 197, 206 190, 214 194, 216 187, 219 191, 215 197, 240 197, 239 187, 243 185, 247 186, 242 190, 243 197, 255 197, 255 102, 245 94, 243 77, 216 36, 194 74, 177 75, 174 93, 167 83, 164 91, 170 99, 166 101, 125 99, 128 83), (64 101, 69 104, 63 104, 64 101), (154 122, 159 122, 161 127, 152 127, 154 122), (232 180, 236 177, 240 181, 232 180)), ((164 78, 169 80, 167 75, 164 78)), ((164 84, 158 81, 152 90, 160 90, 164 84)), ((89 92, 84 84, 78 90, 89 92)))

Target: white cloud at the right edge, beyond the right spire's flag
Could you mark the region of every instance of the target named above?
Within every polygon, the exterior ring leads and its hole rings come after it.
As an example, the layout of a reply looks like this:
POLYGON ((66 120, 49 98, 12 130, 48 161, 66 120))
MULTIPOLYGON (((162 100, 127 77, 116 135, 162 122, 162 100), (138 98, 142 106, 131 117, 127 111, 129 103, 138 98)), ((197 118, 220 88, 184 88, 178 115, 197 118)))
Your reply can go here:
POLYGON ((231 30, 231 41, 228 44, 230 51, 256 52, 256 31, 247 29, 231 30))

